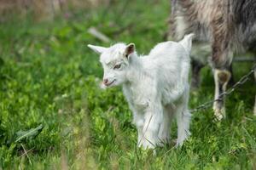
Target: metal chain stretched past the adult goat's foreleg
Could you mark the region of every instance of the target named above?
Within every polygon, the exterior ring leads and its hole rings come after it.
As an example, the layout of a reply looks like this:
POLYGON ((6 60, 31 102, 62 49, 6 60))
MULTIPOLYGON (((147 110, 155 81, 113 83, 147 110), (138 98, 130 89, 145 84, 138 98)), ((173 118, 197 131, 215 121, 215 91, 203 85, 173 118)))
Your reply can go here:
POLYGON ((206 103, 199 105, 198 107, 196 107, 193 110, 190 110, 191 113, 195 112, 195 111, 200 111, 200 110, 205 110, 208 107, 212 106, 212 104, 216 101, 221 101, 223 99, 224 96, 229 96, 230 94, 232 94, 236 88, 240 87, 242 84, 244 84, 245 82, 247 82, 247 80, 249 80, 249 77, 253 74, 253 72, 256 70, 256 64, 253 65, 252 69, 243 77, 241 77, 241 79, 236 82, 230 89, 228 89, 227 91, 225 91, 224 93, 220 94, 218 96, 218 99, 212 99, 210 101, 207 101, 206 103))

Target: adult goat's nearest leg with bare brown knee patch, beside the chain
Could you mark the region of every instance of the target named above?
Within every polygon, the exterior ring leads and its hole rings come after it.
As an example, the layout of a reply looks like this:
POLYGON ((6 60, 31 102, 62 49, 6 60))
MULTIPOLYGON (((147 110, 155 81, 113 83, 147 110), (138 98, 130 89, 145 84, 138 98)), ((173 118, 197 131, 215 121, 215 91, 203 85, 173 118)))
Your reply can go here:
POLYGON ((216 100, 213 103, 213 111, 217 119, 221 120, 225 116, 224 92, 231 77, 230 64, 233 54, 230 51, 230 40, 227 35, 227 29, 221 30, 218 24, 215 23, 212 29, 212 66, 215 82, 214 99, 216 100))

